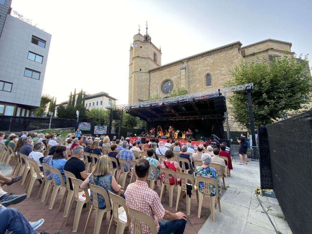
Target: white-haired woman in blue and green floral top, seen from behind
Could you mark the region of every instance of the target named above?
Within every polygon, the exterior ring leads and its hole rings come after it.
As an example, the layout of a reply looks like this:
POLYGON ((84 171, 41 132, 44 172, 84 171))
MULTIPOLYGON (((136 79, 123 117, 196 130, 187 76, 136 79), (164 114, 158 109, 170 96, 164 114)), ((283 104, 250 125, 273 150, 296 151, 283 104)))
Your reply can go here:
MULTIPOLYGON (((210 154, 203 154, 202 155, 202 166, 197 166, 195 168, 195 178, 197 176, 205 176, 205 177, 209 177, 209 178, 213 178, 215 180, 217 180, 218 182, 218 197, 221 198, 221 194, 220 194, 220 189, 221 187, 219 186, 219 177, 217 174, 217 170, 214 167, 209 167, 209 163, 211 163, 211 156, 210 154)), ((198 190, 201 193, 204 193, 204 183, 203 182, 199 182, 198 184, 198 190)), ((210 196, 216 196, 217 191, 216 191, 216 187, 214 185, 209 184, 209 190, 210 190, 210 196)), ((215 200, 215 205, 217 205, 217 197, 215 200)))

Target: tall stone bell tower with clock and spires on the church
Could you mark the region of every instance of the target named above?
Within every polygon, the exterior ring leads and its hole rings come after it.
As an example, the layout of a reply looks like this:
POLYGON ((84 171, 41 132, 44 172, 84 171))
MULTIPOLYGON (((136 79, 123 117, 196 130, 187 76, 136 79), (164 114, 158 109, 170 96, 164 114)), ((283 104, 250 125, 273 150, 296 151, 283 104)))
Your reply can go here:
POLYGON ((149 70, 161 66, 161 50, 152 43, 146 22, 145 35, 139 32, 133 36, 129 57, 129 103, 149 99, 149 70))

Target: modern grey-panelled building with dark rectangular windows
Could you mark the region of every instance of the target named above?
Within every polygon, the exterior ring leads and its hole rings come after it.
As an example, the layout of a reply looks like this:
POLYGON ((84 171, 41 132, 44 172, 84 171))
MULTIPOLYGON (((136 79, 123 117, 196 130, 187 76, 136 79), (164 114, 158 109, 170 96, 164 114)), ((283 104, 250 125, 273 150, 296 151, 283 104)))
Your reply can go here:
POLYGON ((30 116, 40 106, 51 34, 10 15, 0 0, 0 115, 30 116))

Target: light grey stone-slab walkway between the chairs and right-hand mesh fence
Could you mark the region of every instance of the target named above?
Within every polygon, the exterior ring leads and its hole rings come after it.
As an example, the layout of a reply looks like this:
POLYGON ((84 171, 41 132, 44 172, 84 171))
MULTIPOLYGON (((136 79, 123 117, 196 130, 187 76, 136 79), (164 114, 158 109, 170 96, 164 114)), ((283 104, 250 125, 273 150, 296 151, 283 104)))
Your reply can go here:
MULTIPOLYGON (((233 163, 231 177, 226 178, 227 191, 221 199, 221 213, 216 209, 215 222, 211 217, 204 223, 199 234, 204 233, 276 233, 274 227, 254 196, 260 186, 259 163, 248 165, 233 163)), ((273 224, 280 233, 292 233, 287 222, 278 217, 283 215, 277 199, 259 197, 273 224)))

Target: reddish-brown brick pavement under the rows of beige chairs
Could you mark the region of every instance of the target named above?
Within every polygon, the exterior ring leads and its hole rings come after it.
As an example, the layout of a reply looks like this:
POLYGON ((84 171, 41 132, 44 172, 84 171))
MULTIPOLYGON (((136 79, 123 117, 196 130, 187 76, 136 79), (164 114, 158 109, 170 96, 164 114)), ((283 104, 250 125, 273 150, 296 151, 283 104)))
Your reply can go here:
MULTIPOLYGON (((11 164, 12 168, 15 167, 15 162, 11 161, 10 164, 11 164)), ((9 175, 9 177, 10 177, 10 175, 9 175)), ((130 179, 128 178, 127 182, 126 182, 126 186, 125 186, 126 188, 127 188, 127 185, 129 184, 129 180, 130 179)), ((119 180, 119 182, 120 182, 120 180, 119 180)), ((134 182, 134 179, 132 180, 132 182, 134 182)), ((160 187, 160 181, 158 181, 158 184, 160 187)), ((59 213, 57 212, 65 188, 62 188, 59 191, 58 196, 56 197, 56 203, 55 203, 52 210, 49 210, 49 202, 47 205, 44 205, 45 202, 40 201, 41 196, 38 199, 36 198, 38 191, 39 191, 39 188, 40 188, 40 184, 36 182, 34 187, 33 187, 32 194, 29 198, 26 198, 23 202, 21 202, 17 205, 14 205, 14 206, 10 206, 10 207, 17 208, 19 211, 22 212, 22 214, 29 221, 37 221, 41 218, 44 218, 45 222, 43 223, 43 225, 41 227, 39 227, 37 229, 38 232, 45 231, 45 232, 49 232, 49 233, 54 233, 57 230, 61 230, 62 234, 71 233, 72 232, 72 225, 74 222, 75 208, 71 212, 71 217, 70 217, 68 225, 66 227, 64 226, 66 217, 63 217, 64 207, 62 208, 62 210, 59 213)), ((7 193, 13 193, 13 194, 22 194, 25 192, 24 185, 21 185, 20 182, 14 183, 11 186, 4 185, 3 190, 6 191, 7 193)), ((156 192, 159 195, 160 194, 160 188, 158 188, 156 190, 156 192)), ((175 204, 176 204, 176 200, 177 200, 177 192, 178 192, 178 189, 174 188, 174 190, 173 190, 173 207, 169 207, 169 192, 168 192, 168 190, 162 198, 163 207, 170 212, 176 212, 175 211, 175 204)), ((225 189, 222 188, 222 195, 224 192, 225 192, 225 189)), ((64 204, 64 206, 65 206, 65 204, 64 204)), ((221 204, 221 207, 222 207, 222 204, 221 204)), ((178 211, 186 213, 186 198, 183 198, 183 201, 179 201, 178 211)), ((204 222, 207 220, 207 218, 209 217, 209 215, 211 213, 210 212, 209 198, 204 197, 203 204, 202 204, 201 218, 197 217, 197 211, 198 211, 198 209, 197 209, 196 197, 192 196, 192 198, 191 198, 191 211, 190 211, 190 215, 187 216, 187 225, 186 225, 184 233, 186 233, 186 234, 197 233, 200 230, 200 228, 202 227, 202 225, 204 224, 204 222)), ((83 233, 88 214, 89 214, 89 211, 86 211, 85 208, 83 208, 82 213, 81 213, 81 217, 80 217, 80 222, 78 225, 78 231, 75 233, 77 233, 77 234, 83 233)), ((91 219, 90 219, 90 222, 88 224, 88 228, 86 230, 86 233, 93 233, 95 214, 96 214, 96 212, 93 212, 91 219)), ((102 224, 101 224, 102 227, 100 229, 101 233, 107 233, 107 230, 109 227, 109 221, 110 221, 109 217, 110 216, 107 215, 107 218, 103 219, 102 224)), ((115 233, 115 232, 116 232, 116 226, 114 225, 112 227, 111 233, 115 233)), ((130 231, 125 230, 124 233, 130 233, 130 231)))

